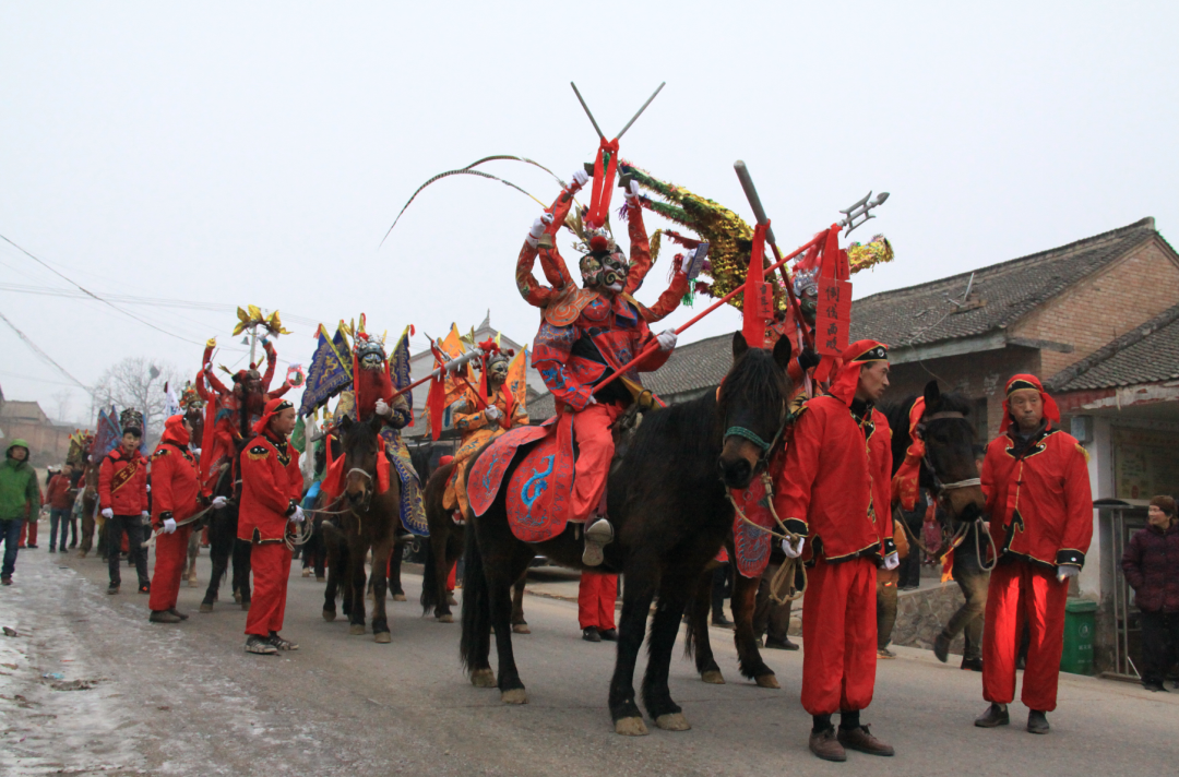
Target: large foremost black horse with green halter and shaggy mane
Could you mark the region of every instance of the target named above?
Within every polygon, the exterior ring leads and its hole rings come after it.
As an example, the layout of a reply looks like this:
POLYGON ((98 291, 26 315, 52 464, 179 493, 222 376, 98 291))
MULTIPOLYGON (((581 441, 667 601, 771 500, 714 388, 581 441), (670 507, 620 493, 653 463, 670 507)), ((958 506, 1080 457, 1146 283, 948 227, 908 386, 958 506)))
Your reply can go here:
MULTIPOLYGON (((733 508, 726 489, 747 487, 777 447, 769 443, 766 449, 753 440, 782 437, 789 361, 786 338, 768 351, 750 348, 737 332, 733 364, 718 391, 645 414, 619 452, 606 496, 615 539, 605 547, 605 560, 597 567, 626 575, 608 700, 617 733, 647 733, 634 700, 634 665, 656 595, 659 606, 651 624, 643 703, 660 729, 691 727, 667 689, 680 615, 704 567, 732 531, 733 508)), ((519 461, 513 462, 508 473, 518 466, 519 461)), ((503 482, 511 482, 511 474, 503 482)), ((512 652, 508 591, 536 553, 581 568, 580 527, 573 524, 553 539, 523 542, 508 525, 501 489, 483 515, 472 516, 472 528, 466 541, 462 663, 474 685, 498 686, 502 702, 525 704, 528 696, 512 652), (498 681, 488 661, 492 628, 499 654, 498 681)))

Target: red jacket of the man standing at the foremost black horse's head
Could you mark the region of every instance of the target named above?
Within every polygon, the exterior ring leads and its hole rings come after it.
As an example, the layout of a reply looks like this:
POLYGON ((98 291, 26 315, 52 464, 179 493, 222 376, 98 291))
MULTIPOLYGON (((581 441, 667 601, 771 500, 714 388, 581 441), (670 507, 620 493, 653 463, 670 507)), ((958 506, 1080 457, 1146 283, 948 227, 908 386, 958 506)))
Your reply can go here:
POLYGON ((861 421, 841 400, 808 400, 795 422, 773 506, 828 561, 893 548, 891 430, 872 408, 861 421))

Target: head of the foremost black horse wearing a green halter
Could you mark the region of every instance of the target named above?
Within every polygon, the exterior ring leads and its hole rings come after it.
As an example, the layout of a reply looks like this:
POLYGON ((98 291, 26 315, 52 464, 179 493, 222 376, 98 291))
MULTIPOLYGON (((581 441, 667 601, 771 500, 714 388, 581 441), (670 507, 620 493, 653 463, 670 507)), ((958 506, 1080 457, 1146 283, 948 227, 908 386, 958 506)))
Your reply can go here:
POLYGON ((782 442, 790 401, 790 341, 780 338, 772 351, 750 348, 733 335, 733 366, 717 393, 724 442, 720 479, 729 488, 745 488, 769 463, 782 442))

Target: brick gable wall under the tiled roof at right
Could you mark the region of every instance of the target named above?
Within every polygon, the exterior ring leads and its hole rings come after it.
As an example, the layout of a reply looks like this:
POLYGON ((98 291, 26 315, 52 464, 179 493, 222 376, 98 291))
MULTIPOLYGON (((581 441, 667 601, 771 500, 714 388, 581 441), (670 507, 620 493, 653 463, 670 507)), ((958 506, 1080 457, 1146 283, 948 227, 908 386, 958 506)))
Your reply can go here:
POLYGON ((1072 353, 1042 351, 1047 380, 1179 301, 1179 263, 1155 237, 1049 299, 1012 328, 1014 337, 1067 343, 1072 353))

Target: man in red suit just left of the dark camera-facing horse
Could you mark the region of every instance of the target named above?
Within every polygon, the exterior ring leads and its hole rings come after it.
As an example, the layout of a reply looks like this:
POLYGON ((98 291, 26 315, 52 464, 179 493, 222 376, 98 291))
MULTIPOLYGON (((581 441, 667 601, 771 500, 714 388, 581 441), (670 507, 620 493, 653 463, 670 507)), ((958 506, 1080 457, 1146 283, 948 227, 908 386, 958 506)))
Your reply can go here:
POLYGON ((291 572, 286 526, 303 521, 303 509, 298 506, 303 495, 298 450, 286 440, 294 429, 295 406, 286 400, 270 400, 253 424, 256 436, 242 452, 237 536, 253 546, 250 551, 253 600, 245 620, 248 653, 298 650, 298 645, 278 636, 291 572))

